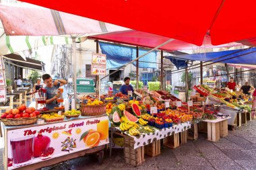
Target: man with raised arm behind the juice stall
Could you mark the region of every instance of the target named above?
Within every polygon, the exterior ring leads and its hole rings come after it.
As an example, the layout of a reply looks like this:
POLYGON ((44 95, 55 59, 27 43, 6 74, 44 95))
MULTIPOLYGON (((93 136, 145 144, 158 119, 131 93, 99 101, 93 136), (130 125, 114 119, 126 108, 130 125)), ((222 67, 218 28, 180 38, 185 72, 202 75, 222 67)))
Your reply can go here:
POLYGON ((67 84, 67 81, 63 79, 57 79, 53 82, 53 79, 49 74, 42 75, 42 80, 44 81, 44 84, 46 84, 46 87, 44 87, 44 89, 46 89, 46 108, 53 110, 55 107, 58 107, 58 97, 55 91, 57 91, 59 87, 67 84))

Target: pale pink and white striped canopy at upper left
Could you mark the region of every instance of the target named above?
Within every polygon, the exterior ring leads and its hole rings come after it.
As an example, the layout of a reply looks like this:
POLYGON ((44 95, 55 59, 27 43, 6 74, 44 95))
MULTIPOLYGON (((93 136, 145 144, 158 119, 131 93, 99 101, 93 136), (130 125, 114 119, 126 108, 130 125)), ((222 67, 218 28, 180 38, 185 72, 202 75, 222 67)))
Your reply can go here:
POLYGON ((86 36, 129 30, 27 3, 0 4, 0 19, 0 54, 71 44, 72 37, 82 42, 86 36))

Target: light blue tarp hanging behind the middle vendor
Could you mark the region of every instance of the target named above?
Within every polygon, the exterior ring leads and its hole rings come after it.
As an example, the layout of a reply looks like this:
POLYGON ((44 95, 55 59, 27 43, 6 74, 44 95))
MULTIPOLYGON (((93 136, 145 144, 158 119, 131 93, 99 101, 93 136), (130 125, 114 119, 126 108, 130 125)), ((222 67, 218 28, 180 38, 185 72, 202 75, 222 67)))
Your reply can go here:
MULTIPOLYGON (((100 42, 100 48, 102 50, 102 54, 106 54, 106 69, 117 69, 136 58, 136 48, 134 47, 100 42)), ((139 56, 146 52, 148 52, 148 50, 139 49, 139 56)), ((146 61, 139 62, 140 68, 157 69, 156 51, 150 52, 150 54, 139 58, 139 61, 146 61)), ((133 65, 136 65, 135 62, 133 65)))

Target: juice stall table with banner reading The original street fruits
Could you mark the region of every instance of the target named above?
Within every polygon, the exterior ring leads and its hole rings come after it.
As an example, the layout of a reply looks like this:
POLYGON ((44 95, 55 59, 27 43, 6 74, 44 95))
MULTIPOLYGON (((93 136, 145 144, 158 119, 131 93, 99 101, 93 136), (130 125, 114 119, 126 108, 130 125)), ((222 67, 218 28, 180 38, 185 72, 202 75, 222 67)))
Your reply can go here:
POLYGON ((98 161, 102 163, 103 150, 108 144, 106 115, 3 126, 3 130, 5 170, 39 169, 91 153, 98 153, 98 161))

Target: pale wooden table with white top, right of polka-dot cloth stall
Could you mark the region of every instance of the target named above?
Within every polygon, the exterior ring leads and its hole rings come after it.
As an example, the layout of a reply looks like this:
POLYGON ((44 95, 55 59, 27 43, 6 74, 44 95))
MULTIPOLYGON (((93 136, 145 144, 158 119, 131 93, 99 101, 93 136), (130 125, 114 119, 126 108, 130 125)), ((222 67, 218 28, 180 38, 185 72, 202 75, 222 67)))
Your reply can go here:
POLYGON ((203 120, 207 122, 207 140, 217 142, 220 137, 228 136, 228 118, 216 118, 216 120, 203 120))

